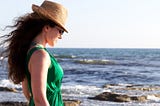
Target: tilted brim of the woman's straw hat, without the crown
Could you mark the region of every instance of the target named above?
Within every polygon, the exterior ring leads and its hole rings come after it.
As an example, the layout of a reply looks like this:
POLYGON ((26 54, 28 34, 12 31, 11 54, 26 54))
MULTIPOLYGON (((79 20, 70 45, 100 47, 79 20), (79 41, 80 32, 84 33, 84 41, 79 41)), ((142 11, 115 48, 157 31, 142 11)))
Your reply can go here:
POLYGON ((46 18, 49 18, 50 20, 52 20, 53 22, 55 22, 58 26, 60 26, 65 32, 68 33, 67 29, 65 28, 64 25, 60 24, 60 22, 57 22, 57 20, 53 19, 52 16, 50 14, 48 14, 48 12, 46 10, 44 10, 42 7, 39 7, 37 5, 32 5, 32 10, 36 13, 38 13, 39 15, 42 15, 46 18))

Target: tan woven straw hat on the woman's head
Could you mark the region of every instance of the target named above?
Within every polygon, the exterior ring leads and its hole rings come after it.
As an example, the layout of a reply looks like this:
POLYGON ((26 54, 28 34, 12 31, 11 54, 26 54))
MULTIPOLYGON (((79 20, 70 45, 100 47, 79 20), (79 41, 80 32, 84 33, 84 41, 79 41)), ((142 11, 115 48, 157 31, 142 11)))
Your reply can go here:
POLYGON ((67 9, 61 4, 45 0, 41 6, 32 5, 32 10, 39 15, 49 18, 57 25, 63 28, 65 32, 68 31, 65 28, 65 22, 67 19, 67 9))

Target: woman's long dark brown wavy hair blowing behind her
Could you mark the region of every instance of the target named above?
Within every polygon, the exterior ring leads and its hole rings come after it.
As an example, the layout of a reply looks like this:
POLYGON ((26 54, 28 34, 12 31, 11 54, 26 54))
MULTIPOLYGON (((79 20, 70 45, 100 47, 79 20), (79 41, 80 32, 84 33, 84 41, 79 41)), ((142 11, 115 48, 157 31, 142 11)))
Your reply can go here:
POLYGON ((56 24, 36 13, 30 13, 17 18, 13 26, 7 26, 14 30, 1 37, 3 41, 0 45, 5 47, 1 55, 8 57, 8 77, 15 84, 24 80, 27 51, 45 25, 54 27, 56 24))

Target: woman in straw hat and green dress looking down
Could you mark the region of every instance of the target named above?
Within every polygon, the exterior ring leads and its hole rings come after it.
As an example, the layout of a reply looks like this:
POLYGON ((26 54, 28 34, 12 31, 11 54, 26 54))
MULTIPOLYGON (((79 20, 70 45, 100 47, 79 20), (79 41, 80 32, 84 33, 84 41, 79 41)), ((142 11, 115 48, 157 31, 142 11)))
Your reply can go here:
POLYGON ((32 5, 33 13, 19 17, 3 44, 8 57, 9 78, 22 82, 30 106, 63 106, 61 81, 63 70, 46 50, 62 39, 67 10, 60 4, 44 1, 32 5))

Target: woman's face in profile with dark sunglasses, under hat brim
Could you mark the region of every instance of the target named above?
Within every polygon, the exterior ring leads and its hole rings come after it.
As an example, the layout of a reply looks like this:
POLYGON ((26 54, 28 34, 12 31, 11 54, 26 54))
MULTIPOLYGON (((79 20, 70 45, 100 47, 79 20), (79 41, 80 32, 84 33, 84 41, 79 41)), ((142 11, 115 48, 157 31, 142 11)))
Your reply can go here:
POLYGON ((46 41, 48 45, 53 47, 57 43, 58 39, 62 39, 63 32, 63 29, 58 26, 48 26, 48 31, 46 33, 46 41))

